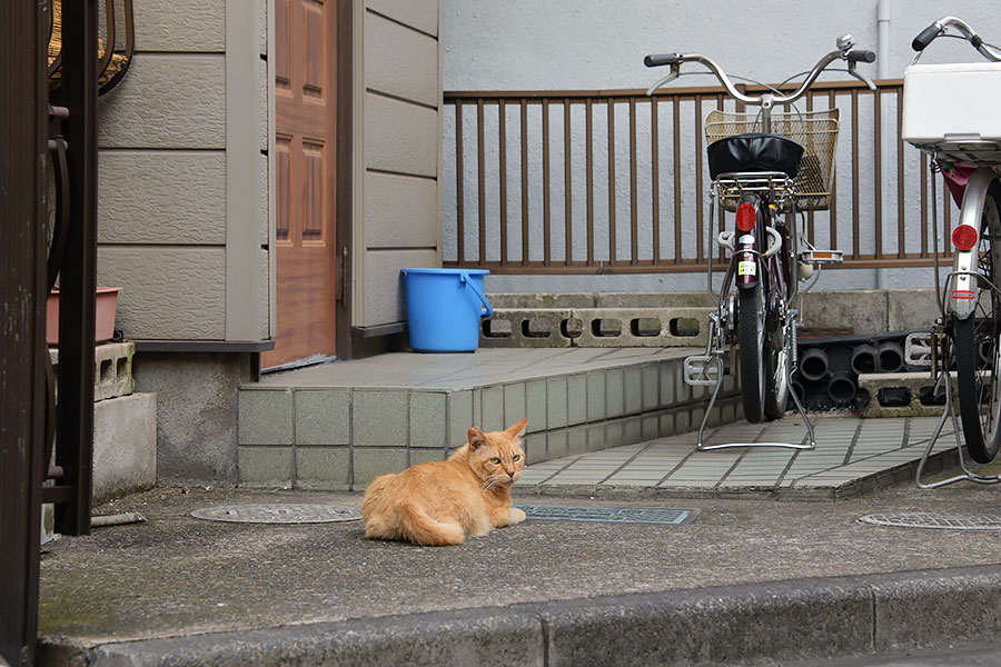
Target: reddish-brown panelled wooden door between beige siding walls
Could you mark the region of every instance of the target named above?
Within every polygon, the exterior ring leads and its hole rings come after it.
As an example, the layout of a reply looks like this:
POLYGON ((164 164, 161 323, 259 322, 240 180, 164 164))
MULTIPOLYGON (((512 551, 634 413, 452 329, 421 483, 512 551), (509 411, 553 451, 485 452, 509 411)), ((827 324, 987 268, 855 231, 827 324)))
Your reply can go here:
POLYGON ((276 0, 275 349, 261 366, 333 357, 336 0, 276 0))

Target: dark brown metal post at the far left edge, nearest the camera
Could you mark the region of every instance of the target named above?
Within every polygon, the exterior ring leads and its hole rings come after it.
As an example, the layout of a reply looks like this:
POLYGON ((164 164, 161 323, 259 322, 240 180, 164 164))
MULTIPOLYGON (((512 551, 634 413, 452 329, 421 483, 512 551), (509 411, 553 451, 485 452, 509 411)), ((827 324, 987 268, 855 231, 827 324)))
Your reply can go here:
POLYGON ((38 634, 44 477, 43 2, 0 3, 0 664, 30 665, 38 634))

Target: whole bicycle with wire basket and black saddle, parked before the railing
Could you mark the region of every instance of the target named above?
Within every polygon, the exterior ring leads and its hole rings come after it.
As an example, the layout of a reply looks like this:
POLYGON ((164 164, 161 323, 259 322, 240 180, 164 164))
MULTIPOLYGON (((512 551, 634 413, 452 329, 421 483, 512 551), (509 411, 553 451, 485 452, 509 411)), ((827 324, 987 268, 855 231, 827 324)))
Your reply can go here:
MULTIPOLYGON (((707 291, 716 306, 710 313, 708 342, 704 355, 685 359, 688 385, 715 386, 698 429, 696 449, 723 447, 787 447, 813 449, 816 440, 805 409, 791 390, 796 365, 799 311, 792 303, 799 292, 800 272, 838 263, 839 250, 817 250, 796 226, 800 210, 827 207, 833 176, 838 110, 773 113, 776 104, 791 106, 802 98, 830 64, 848 63, 848 71, 871 89, 875 86, 855 70, 859 62, 873 62, 872 51, 854 49, 854 39, 843 36, 838 49, 822 57, 792 92, 770 88, 760 96, 737 90, 731 77, 710 58, 697 53, 652 54, 647 67, 670 66, 671 72, 654 83, 653 92, 681 76, 685 62, 708 68, 726 93, 743 104, 759 107, 755 113, 714 110, 706 117, 710 176, 708 238, 730 251, 730 262, 718 295, 713 289, 712 250, 707 253, 707 291), (735 230, 713 235, 715 207, 735 213, 735 230), (784 216, 784 217, 783 217, 784 216), (791 223, 790 223, 791 221, 791 223), (780 418, 790 397, 803 417, 809 444, 733 442, 705 445, 703 434, 710 419, 726 365, 725 350, 740 349, 739 370, 744 418, 753 424, 780 418)), ((792 79, 797 78, 793 77, 792 79)), ((805 229, 805 228, 804 228, 805 229)))

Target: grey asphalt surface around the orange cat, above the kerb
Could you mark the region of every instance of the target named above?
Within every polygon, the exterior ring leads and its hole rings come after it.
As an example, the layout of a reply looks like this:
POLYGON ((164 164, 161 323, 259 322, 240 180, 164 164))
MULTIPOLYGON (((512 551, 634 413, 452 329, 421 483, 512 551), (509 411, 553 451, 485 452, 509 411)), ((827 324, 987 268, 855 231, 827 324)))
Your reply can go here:
MULTIPOLYGON (((247 502, 357 506, 359 495, 159 489, 97 508, 141 525, 44 549, 40 633, 96 644, 409 614, 1001 564, 997 532, 864 526, 871 512, 978 514, 1001 487, 911 486, 852 500, 516 497, 541 505, 695 508, 682 526, 529 520, 459 547, 366 540, 359 522, 250 525, 190 517, 247 502)), ((1001 663, 1001 660, 999 660, 1001 663)))

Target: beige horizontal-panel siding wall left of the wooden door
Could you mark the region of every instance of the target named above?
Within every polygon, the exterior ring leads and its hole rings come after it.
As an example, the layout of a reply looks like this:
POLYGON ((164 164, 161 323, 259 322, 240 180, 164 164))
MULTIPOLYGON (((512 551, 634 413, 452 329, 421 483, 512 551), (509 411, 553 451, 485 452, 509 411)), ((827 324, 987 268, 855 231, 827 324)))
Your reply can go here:
POLYGON ((129 338, 268 337, 271 1, 135 3, 98 130, 98 282, 129 338))

